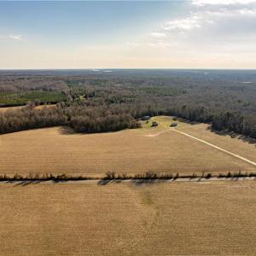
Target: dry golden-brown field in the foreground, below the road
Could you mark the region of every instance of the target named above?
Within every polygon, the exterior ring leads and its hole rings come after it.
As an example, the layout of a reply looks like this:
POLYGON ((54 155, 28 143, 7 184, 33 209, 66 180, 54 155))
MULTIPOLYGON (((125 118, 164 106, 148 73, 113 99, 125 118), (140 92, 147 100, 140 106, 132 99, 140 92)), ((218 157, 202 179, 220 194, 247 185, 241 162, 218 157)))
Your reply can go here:
POLYGON ((0 183, 1 255, 255 255, 256 183, 0 183))

